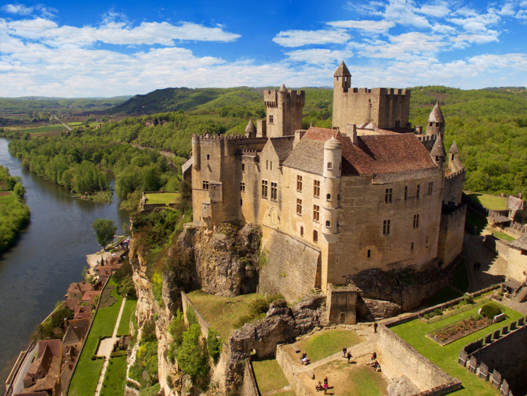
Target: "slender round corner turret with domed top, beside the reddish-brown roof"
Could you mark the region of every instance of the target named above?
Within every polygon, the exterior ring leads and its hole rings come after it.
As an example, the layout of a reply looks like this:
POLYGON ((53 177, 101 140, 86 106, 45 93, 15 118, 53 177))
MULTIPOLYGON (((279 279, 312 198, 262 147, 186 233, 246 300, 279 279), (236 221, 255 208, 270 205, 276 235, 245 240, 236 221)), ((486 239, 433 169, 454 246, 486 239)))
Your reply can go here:
POLYGON ((323 234, 338 234, 342 144, 332 137, 324 145, 323 234))

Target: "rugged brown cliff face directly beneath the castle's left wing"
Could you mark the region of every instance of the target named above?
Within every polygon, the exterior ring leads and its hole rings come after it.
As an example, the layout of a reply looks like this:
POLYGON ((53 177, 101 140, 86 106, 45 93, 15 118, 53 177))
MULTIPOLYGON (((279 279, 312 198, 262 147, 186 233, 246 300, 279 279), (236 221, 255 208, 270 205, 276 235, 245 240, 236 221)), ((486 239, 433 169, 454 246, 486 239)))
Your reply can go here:
POLYGON ((205 293, 234 297, 256 291, 259 242, 260 230, 252 224, 221 224, 214 231, 186 225, 177 248, 194 264, 196 278, 189 282, 205 293))

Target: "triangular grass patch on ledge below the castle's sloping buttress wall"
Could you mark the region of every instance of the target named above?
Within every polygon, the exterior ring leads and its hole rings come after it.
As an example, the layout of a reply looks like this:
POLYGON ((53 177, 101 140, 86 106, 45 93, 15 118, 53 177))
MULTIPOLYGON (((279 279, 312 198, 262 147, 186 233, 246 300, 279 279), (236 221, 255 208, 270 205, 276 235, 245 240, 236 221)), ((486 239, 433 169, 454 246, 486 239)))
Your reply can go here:
POLYGON ((188 293, 190 301, 226 342, 236 330, 234 323, 241 316, 249 315, 249 303, 263 297, 260 293, 242 294, 236 297, 221 297, 202 291, 188 293))

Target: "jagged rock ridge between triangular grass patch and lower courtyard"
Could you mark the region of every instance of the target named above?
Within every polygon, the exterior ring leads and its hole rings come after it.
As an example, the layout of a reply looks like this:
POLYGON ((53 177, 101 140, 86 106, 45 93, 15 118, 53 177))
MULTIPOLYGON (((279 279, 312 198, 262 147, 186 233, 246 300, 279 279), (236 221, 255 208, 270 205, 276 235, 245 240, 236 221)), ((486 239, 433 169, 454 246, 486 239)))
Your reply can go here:
POLYGON ((325 296, 313 294, 291 308, 285 300, 274 301, 264 320, 248 323, 234 331, 229 338, 230 351, 226 366, 229 395, 237 395, 241 390, 244 360, 249 357, 251 350, 260 358, 273 355, 278 343, 309 333, 325 318, 325 296))

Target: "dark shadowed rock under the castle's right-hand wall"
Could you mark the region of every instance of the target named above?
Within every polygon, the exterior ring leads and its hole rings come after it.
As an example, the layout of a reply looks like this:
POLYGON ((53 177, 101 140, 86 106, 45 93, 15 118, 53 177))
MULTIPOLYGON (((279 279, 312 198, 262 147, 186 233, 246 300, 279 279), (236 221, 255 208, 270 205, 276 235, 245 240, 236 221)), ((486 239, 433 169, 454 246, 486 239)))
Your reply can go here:
POLYGON ((358 320, 390 318, 419 306, 449 282, 447 272, 430 265, 424 271, 370 269, 351 276, 360 291, 358 320))

